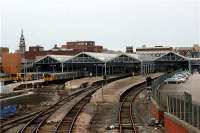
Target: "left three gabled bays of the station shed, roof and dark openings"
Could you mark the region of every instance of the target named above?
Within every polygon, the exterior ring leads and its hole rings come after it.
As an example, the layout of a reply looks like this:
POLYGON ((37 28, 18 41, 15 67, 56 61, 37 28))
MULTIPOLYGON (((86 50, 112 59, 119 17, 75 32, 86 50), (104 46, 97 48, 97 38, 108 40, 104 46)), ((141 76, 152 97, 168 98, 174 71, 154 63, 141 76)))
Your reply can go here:
POLYGON ((35 62, 39 72, 87 71, 92 75, 139 72, 140 60, 135 54, 82 52, 75 56, 47 55, 35 62))

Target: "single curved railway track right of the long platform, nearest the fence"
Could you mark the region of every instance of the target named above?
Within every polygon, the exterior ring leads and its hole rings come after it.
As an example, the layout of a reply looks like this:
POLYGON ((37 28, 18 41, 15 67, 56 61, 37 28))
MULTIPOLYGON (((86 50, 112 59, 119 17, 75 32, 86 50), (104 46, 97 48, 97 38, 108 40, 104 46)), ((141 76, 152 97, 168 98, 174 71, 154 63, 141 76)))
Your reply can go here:
POLYGON ((135 125, 132 105, 138 94, 144 89, 144 84, 139 85, 129 92, 125 92, 120 104, 119 109, 119 132, 120 133, 138 133, 137 126, 135 125))

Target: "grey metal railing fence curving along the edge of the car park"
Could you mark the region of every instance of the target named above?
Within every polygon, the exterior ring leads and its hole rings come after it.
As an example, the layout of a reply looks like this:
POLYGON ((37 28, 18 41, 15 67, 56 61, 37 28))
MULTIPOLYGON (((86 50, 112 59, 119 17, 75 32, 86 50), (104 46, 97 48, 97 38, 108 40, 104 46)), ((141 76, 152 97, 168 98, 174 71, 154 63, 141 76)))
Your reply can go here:
MULTIPOLYGON (((179 71, 176 71, 177 73, 179 71)), ((177 118, 200 129, 200 105, 192 102, 189 93, 163 93, 159 90, 164 81, 172 74, 164 74, 154 80, 152 84, 152 97, 157 104, 165 111, 177 118)))

